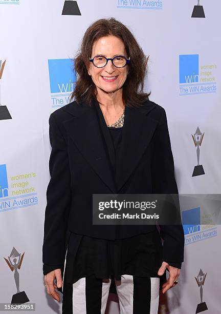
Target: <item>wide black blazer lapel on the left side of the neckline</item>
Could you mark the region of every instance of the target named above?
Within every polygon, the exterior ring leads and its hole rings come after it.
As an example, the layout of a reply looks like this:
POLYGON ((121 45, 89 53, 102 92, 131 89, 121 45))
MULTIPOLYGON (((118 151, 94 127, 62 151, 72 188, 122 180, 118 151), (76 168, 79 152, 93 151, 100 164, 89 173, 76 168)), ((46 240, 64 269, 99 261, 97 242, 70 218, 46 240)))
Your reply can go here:
MULTIPOLYGON (((64 126, 84 158, 100 176, 101 180, 116 193, 113 174, 103 145, 96 109, 86 103, 69 104, 64 111, 74 117, 65 121, 64 126)), ((93 184, 93 183, 92 183, 93 184)))

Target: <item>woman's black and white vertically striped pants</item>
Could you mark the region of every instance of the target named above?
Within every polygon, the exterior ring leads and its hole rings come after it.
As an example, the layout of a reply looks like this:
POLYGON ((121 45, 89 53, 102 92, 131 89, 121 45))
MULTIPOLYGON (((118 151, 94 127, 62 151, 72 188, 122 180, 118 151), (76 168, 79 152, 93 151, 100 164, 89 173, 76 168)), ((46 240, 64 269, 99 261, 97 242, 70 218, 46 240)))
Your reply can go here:
MULTIPOLYGON (((157 314, 159 278, 142 278, 125 274, 115 280, 121 314, 157 314)), ((76 283, 63 283, 62 314, 104 314, 111 278, 94 276, 76 283)))

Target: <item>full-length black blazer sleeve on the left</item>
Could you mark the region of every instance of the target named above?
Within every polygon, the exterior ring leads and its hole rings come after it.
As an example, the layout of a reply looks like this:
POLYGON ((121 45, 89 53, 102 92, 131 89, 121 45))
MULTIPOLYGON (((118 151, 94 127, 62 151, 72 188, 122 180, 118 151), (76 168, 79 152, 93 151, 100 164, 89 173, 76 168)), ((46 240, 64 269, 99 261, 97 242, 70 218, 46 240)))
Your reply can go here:
POLYGON ((43 274, 60 268, 65 260, 65 239, 71 204, 71 178, 67 143, 56 122, 55 115, 49 117, 49 137, 51 155, 49 171, 51 175, 47 188, 44 236, 42 246, 43 274))

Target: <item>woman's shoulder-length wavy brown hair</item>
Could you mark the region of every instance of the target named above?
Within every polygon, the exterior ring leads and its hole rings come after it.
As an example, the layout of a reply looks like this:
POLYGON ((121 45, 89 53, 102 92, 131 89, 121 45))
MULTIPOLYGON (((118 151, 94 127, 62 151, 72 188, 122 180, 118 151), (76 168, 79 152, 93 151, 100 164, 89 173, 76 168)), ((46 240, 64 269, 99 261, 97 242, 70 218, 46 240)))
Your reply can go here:
POLYGON ((98 19, 87 28, 81 42, 80 52, 74 60, 77 82, 71 94, 71 100, 75 99, 77 103, 85 101, 91 105, 96 99, 97 89, 91 75, 87 72, 90 66, 89 58, 91 58, 94 42, 109 35, 123 41, 126 53, 130 57, 129 73, 123 85, 123 102, 128 107, 140 106, 150 95, 143 92, 144 79, 147 75, 147 58, 130 30, 114 17, 98 19))

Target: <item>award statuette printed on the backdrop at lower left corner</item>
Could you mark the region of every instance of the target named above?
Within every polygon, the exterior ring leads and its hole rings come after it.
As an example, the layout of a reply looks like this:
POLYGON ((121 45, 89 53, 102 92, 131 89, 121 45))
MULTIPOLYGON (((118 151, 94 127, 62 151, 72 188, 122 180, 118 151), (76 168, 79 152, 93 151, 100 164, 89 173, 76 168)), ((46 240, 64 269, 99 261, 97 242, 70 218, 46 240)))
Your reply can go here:
POLYGON ((4 258, 6 263, 8 264, 9 268, 11 271, 14 270, 14 280, 15 280, 15 285, 17 289, 17 293, 12 296, 11 304, 22 304, 29 302, 29 298, 27 297, 25 291, 20 291, 19 290, 19 273, 18 269, 21 267, 21 263, 23 261, 25 252, 21 255, 18 253, 18 251, 13 247, 10 257, 8 256, 8 259, 4 258), (11 261, 13 259, 13 263, 11 261))

